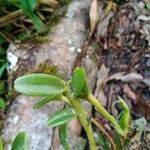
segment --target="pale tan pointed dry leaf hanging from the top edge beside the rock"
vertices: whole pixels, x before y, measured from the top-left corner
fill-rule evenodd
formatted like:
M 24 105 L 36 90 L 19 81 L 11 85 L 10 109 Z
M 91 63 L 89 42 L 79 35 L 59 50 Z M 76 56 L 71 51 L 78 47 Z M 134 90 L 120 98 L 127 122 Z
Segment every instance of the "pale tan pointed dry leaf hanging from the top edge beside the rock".
M 97 22 L 98 22 L 98 2 L 97 0 L 93 0 L 90 8 L 90 24 L 91 24 L 91 35 L 93 34 Z

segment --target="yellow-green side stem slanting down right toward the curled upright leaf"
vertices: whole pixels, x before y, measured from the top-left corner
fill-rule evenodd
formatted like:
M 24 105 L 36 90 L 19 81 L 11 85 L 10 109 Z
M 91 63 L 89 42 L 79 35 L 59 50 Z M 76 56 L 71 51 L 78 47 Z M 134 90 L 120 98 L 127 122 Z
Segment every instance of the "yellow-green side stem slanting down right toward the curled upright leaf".
M 124 131 L 122 130 L 122 128 L 119 126 L 119 124 L 117 123 L 116 119 L 110 115 L 108 113 L 108 111 L 104 108 L 104 106 L 100 103 L 100 101 L 91 93 L 88 94 L 87 96 L 87 100 L 94 105 L 94 107 L 96 108 L 96 110 L 104 117 L 106 118 L 111 124 L 112 126 L 117 130 L 117 132 L 121 135 L 121 136 L 125 136 Z

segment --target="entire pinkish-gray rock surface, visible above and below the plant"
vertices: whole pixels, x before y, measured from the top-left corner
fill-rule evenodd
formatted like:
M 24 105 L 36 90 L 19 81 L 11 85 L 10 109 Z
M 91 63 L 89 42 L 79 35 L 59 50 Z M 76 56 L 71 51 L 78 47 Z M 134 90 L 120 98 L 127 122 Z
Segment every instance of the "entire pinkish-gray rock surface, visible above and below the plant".
M 10 86 L 13 87 L 13 81 L 17 76 L 34 70 L 45 62 L 58 66 L 66 75 L 65 78 L 69 78 L 75 58 L 81 52 L 80 48 L 86 40 L 90 3 L 90 0 L 74 0 L 69 5 L 66 16 L 48 36 L 49 42 L 41 45 L 27 45 L 26 48 L 17 48 L 13 45 L 9 47 Z M 87 68 L 88 79 L 93 89 L 97 66 L 90 57 L 83 60 L 83 66 Z M 28 132 L 32 150 L 51 148 L 52 138 L 55 138 L 55 134 L 52 128 L 47 127 L 46 120 L 54 111 L 63 108 L 63 105 L 62 103 L 50 103 L 35 111 L 32 109 L 32 105 L 36 99 L 22 95 L 17 96 L 8 108 L 2 129 L 2 138 L 8 143 L 6 144 L 7 150 L 10 149 L 11 140 L 22 130 Z M 85 105 L 89 108 L 89 104 Z M 70 136 L 72 137 L 71 147 L 74 147 L 78 140 L 82 141 L 81 138 L 77 136 L 74 138 L 74 136 Z

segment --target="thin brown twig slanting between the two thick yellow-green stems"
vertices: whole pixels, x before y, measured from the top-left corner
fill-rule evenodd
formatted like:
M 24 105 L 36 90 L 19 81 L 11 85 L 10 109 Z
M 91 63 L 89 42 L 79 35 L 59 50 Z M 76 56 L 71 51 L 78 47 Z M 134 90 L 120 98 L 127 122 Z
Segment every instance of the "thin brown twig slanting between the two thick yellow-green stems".
M 107 139 L 111 143 L 112 150 L 116 150 L 116 145 L 114 143 L 113 138 L 105 131 L 104 127 L 100 123 L 98 123 L 94 118 L 91 119 L 91 122 L 93 122 L 100 129 L 100 131 L 107 137 Z

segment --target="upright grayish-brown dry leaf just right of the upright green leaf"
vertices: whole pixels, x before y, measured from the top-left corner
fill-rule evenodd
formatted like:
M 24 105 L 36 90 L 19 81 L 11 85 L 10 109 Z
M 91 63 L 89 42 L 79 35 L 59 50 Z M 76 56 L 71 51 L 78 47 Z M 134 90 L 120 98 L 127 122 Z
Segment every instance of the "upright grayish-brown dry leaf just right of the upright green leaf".
M 107 104 L 107 97 L 104 93 L 103 87 L 107 82 L 108 73 L 109 73 L 109 69 L 107 69 L 104 65 L 102 65 L 100 72 L 98 74 L 96 90 L 94 93 L 94 95 L 102 102 L 103 106 L 106 106 Z

